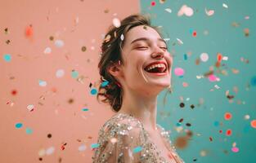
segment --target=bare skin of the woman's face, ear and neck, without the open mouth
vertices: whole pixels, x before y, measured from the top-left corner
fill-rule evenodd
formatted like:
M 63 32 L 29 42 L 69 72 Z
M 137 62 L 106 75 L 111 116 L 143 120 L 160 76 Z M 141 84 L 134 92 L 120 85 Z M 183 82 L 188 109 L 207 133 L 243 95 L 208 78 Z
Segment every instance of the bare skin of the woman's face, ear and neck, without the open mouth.
M 159 33 L 144 25 L 134 27 L 124 36 L 123 64 L 115 64 L 109 72 L 123 88 L 123 104 L 119 112 L 132 114 L 146 130 L 154 132 L 156 127 L 157 96 L 170 86 L 173 58 Z M 133 42 L 137 38 L 146 40 Z M 155 76 L 144 68 L 151 62 L 164 60 L 168 64 L 167 75 Z

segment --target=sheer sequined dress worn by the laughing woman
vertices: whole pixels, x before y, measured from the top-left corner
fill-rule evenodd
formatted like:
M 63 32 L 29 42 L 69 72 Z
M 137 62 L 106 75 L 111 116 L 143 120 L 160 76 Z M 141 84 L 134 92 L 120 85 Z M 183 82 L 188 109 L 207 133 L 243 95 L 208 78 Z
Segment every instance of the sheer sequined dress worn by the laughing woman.
M 177 155 L 169 140 L 169 134 L 157 124 L 161 136 L 172 154 L 172 161 L 166 161 L 141 121 L 132 115 L 119 112 L 111 117 L 99 130 L 92 163 L 185 163 Z

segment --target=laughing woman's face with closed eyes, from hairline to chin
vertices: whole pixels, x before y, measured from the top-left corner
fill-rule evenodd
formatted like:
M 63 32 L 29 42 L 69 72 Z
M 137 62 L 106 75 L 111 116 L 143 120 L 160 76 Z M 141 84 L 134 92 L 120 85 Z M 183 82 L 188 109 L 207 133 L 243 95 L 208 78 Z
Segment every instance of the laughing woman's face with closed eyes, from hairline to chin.
M 144 25 L 130 29 L 124 37 L 122 56 L 124 65 L 120 67 L 123 74 L 121 84 L 125 84 L 128 89 L 146 95 L 158 95 L 164 87 L 170 86 L 173 59 L 155 29 Z M 145 70 L 156 61 L 165 64 L 166 73 L 149 73 Z

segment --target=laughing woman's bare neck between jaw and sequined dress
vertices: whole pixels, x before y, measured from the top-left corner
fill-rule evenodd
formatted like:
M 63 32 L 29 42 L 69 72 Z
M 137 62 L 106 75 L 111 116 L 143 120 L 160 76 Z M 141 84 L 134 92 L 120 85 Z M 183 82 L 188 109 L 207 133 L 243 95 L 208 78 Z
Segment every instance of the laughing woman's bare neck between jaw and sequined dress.
M 137 91 L 128 91 L 123 96 L 119 112 L 136 117 L 146 130 L 156 130 L 157 95 L 143 96 Z

